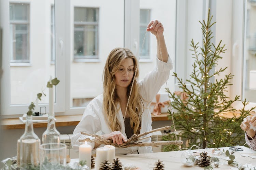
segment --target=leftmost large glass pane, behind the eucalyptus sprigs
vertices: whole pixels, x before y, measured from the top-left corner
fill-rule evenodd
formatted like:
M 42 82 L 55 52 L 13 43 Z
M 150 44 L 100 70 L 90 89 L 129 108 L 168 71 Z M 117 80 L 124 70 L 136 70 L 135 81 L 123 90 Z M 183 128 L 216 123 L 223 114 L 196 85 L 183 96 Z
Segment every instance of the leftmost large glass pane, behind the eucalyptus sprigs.
M 46 84 L 50 75 L 55 77 L 51 63 L 54 0 L 19 2 L 10 3 L 11 105 L 34 102 L 42 90 L 47 96 L 39 103 L 48 103 Z

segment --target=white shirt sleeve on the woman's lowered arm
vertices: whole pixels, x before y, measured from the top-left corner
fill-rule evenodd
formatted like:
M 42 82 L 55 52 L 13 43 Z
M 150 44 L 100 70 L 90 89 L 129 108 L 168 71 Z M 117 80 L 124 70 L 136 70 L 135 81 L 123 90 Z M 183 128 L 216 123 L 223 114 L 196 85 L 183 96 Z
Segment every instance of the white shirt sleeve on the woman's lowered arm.
M 75 127 L 75 130 L 71 138 L 71 144 L 74 151 L 76 152 L 79 151 L 79 146 L 83 144 L 83 142 L 79 142 L 80 139 L 86 139 L 86 138 L 90 138 L 91 140 L 94 139 L 94 137 L 82 135 L 80 132 L 96 134 L 98 131 L 101 130 L 100 119 L 96 113 L 97 109 L 95 107 L 97 108 L 96 101 L 91 101 L 85 108 L 82 120 Z M 87 144 L 91 145 L 92 149 L 95 146 L 94 142 L 93 143 L 87 142 Z

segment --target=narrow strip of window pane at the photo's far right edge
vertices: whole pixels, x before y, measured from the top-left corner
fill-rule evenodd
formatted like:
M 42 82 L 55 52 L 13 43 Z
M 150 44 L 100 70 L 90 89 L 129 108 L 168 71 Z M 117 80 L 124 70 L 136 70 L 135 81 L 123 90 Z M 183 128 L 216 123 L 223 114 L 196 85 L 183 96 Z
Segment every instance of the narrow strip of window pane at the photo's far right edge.
M 245 88 L 244 97 L 256 103 L 256 2 L 247 1 L 247 28 L 245 36 Z M 253 7 L 254 6 L 254 7 Z

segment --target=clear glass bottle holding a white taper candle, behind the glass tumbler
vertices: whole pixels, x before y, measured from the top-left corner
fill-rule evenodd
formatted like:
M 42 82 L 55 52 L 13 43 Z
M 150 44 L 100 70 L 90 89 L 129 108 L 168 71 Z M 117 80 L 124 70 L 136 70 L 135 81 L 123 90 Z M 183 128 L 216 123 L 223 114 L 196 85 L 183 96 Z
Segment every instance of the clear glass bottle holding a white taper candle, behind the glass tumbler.
M 42 143 L 60 143 L 60 133 L 55 127 L 54 113 L 48 114 L 47 129 L 43 133 Z

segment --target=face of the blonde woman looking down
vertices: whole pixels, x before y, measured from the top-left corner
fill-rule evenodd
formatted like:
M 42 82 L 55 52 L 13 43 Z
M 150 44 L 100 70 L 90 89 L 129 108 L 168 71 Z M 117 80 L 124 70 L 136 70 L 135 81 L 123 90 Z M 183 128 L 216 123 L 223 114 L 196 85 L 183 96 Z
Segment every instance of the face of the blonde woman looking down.
M 133 60 L 131 58 L 126 58 L 121 62 L 120 67 L 115 73 L 115 81 L 117 87 L 128 87 L 132 81 L 134 74 Z

